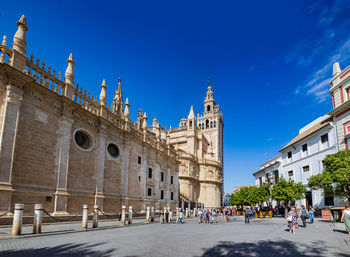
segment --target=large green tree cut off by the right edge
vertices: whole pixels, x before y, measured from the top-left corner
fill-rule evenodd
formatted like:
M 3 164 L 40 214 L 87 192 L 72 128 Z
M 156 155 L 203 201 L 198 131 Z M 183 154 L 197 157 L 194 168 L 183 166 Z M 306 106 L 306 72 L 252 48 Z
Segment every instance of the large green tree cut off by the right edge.
M 309 187 L 326 189 L 325 196 L 337 196 L 350 202 L 350 151 L 327 155 L 323 164 L 323 172 L 309 178 Z

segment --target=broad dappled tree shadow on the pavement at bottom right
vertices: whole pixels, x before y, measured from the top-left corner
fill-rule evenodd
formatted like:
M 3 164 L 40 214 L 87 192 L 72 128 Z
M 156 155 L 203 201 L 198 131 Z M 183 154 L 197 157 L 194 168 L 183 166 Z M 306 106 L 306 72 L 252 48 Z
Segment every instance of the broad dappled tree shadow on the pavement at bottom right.
M 315 241 L 310 245 L 301 245 L 301 250 L 294 242 L 281 241 L 258 241 L 258 242 L 225 242 L 221 241 L 216 246 L 204 249 L 203 257 L 206 256 L 235 256 L 235 257 L 267 257 L 267 256 L 283 256 L 283 257 L 309 257 L 309 256 L 330 256 L 328 246 L 323 241 Z M 348 253 L 338 253 L 336 256 L 349 257 Z

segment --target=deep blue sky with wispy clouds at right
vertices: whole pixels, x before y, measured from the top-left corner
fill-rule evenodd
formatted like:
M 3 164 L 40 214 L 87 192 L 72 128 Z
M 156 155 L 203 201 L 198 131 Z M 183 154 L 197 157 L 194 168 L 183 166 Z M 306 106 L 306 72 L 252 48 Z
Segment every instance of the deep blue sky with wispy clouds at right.
M 350 1 L 5 1 L 9 44 L 25 14 L 27 54 L 107 101 L 122 78 L 131 118 L 175 127 L 203 112 L 210 77 L 224 115 L 225 191 L 331 110 L 332 64 L 350 64 Z

